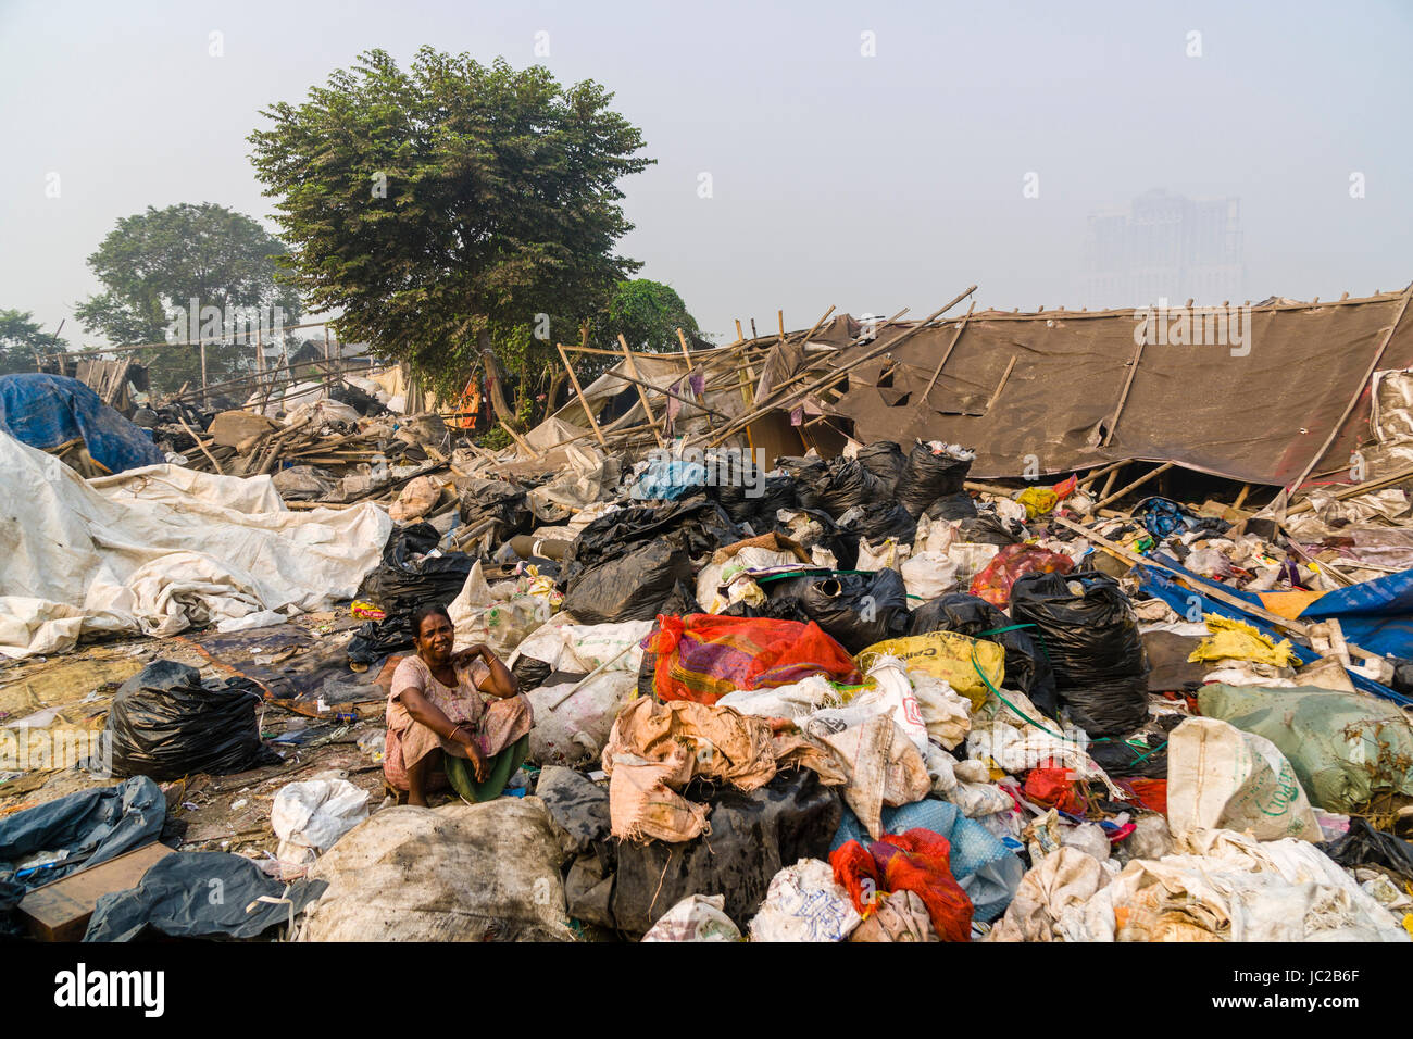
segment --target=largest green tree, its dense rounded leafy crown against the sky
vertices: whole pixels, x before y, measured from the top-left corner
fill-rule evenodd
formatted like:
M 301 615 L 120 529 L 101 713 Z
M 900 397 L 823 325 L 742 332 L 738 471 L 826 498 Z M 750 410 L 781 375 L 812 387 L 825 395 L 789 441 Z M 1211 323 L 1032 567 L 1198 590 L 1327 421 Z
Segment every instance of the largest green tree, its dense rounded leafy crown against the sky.
M 441 387 L 480 362 L 524 393 L 554 341 L 575 341 L 642 266 L 613 252 L 633 226 L 617 181 L 651 160 L 610 100 L 592 81 L 561 86 L 504 59 L 424 47 L 404 71 L 383 51 L 359 55 L 304 103 L 263 112 L 271 124 L 250 136 L 297 250 L 294 284 L 342 311 L 345 338 Z

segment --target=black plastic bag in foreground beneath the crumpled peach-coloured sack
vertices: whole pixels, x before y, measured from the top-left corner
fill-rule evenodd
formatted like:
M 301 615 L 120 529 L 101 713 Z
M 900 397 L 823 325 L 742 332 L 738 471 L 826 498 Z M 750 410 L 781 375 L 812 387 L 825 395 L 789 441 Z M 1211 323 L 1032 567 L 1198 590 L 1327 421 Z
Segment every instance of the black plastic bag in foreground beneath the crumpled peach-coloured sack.
M 564 881 L 569 916 L 632 937 L 688 895 L 723 895 L 726 916 L 745 930 L 780 869 L 828 858 L 844 814 L 839 793 L 803 769 L 750 793 L 695 780 L 682 796 L 711 806 L 711 834 L 617 841 L 609 837 L 608 786 L 567 772 L 545 769 L 536 796 L 565 844 L 579 848 Z

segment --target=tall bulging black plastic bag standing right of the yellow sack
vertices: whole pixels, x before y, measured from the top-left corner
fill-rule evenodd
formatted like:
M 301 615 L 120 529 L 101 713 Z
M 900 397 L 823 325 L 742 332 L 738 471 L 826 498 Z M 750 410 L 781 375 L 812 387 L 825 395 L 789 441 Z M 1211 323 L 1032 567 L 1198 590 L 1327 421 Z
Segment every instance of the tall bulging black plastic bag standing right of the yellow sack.
M 1034 625 L 1030 630 L 1054 666 L 1060 703 L 1091 736 L 1126 736 L 1147 720 L 1143 639 L 1112 577 L 1026 574 L 1010 588 L 1010 618 Z

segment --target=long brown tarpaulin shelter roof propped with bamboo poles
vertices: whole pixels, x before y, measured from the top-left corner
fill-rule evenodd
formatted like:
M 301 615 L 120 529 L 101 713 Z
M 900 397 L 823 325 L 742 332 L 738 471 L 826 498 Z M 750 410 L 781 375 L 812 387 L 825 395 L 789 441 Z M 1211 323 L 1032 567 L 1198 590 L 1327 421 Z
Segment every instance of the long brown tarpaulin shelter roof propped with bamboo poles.
M 931 393 L 928 382 L 961 318 L 853 369 L 828 410 L 851 418 L 865 442 L 894 440 L 906 450 L 921 438 L 972 447 L 972 475 L 982 479 L 1027 475 L 1027 462 L 1054 474 L 1132 458 L 1286 483 L 1320 452 L 1355 393 L 1361 400 L 1324 452 L 1323 468 L 1347 464 L 1368 434 L 1365 375 L 1402 300 L 1403 293 L 1390 293 L 1253 307 L 1245 356 L 1234 356 L 1229 345 L 1149 342 L 1116 421 L 1139 353 L 1135 311 L 988 311 L 965 319 Z M 852 348 L 835 366 L 875 345 Z M 1405 314 L 1378 368 L 1410 365 L 1413 314 Z

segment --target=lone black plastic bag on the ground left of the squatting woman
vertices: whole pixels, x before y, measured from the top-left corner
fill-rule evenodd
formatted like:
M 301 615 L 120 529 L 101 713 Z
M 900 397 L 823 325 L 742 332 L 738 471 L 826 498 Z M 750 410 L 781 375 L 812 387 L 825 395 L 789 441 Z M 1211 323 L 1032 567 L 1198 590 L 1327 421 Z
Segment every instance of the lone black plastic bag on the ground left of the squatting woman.
M 123 683 L 107 711 L 114 776 L 225 775 L 283 759 L 260 742 L 260 687 L 202 686 L 201 671 L 154 660 Z

